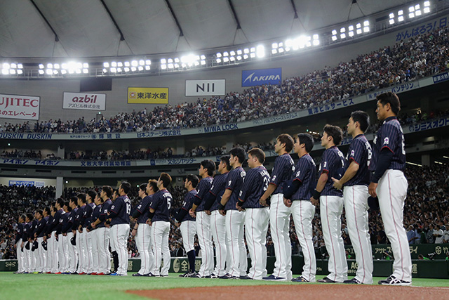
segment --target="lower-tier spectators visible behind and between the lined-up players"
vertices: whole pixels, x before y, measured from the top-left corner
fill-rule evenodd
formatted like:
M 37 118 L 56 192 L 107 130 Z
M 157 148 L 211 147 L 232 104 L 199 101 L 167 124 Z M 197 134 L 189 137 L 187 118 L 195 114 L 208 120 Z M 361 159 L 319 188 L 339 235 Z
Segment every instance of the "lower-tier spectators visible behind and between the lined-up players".
M 408 165 L 408 196 L 404 208 L 404 227 L 408 231 L 410 244 L 449 243 L 449 164 L 435 164 L 431 167 L 415 167 Z M 65 188 L 62 197 L 69 199 L 79 193 L 86 193 L 94 188 Z M 168 189 L 173 195 L 173 215 L 182 206 L 187 190 L 181 186 Z M 133 187 L 128 193 L 132 207 L 140 202 L 138 187 Z M 55 200 L 55 188 L 25 187 L 18 185 L 0 185 L 0 249 L 3 259 L 15 259 L 15 230 L 20 214 L 43 209 Z M 180 229 L 170 221 L 170 254 L 171 256 L 185 256 L 182 248 Z M 313 241 L 316 251 L 324 247 L 323 234 L 319 210 L 316 210 L 313 224 Z M 411 228 L 410 228 L 411 226 Z M 443 229 L 444 228 L 444 229 Z M 351 244 L 347 233 L 346 221 L 342 219 L 342 237 L 345 244 Z M 290 222 L 290 239 L 292 253 L 300 254 L 300 244 L 297 240 L 293 222 Z M 370 211 L 370 241 L 371 244 L 388 244 L 384 233 L 380 211 Z M 267 254 L 274 255 L 274 247 L 270 231 L 267 233 Z M 198 243 L 195 244 L 196 254 L 201 255 Z M 128 256 L 139 257 L 135 240 L 128 238 Z

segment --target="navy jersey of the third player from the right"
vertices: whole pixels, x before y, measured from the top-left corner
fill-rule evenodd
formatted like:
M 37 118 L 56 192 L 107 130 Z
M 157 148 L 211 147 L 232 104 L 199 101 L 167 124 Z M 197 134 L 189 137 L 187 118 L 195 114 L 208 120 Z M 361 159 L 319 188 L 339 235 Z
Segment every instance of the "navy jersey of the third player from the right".
M 335 179 L 342 178 L 345 166 L 346 159 L 344 159 L 343 153 L 338 150 L 337 146 L 332 146 L 324 150 L 319 171 L 320 175 L 323 173 L 328 174 L 328 181 L 326 181 L 326 185 L 321 191 L 321 195 L 343 197 L 342 190 L 337 190 L 333 187 L 334 182 L 332 177 Z

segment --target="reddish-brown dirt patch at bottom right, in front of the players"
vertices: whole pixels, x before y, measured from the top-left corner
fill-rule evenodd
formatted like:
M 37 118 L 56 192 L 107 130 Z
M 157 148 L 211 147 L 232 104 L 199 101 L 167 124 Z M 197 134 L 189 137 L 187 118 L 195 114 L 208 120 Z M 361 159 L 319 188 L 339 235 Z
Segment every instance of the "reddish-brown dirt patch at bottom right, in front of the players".
M 192 287 L 126 291 L 161 300 L 268 299 L 449 299 L 449 287 L 386 287 L 381 285 L 259 285 Z

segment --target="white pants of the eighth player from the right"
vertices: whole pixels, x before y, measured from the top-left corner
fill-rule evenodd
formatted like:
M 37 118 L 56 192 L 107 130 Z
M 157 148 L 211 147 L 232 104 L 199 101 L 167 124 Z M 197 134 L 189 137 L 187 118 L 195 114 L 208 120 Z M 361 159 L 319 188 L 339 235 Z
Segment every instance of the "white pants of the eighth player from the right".
M 213 273 L 217 276 L 223 276 L 226 274 L 227 257 L 226 217 L 222 216 L 218 210 L 211 212 L 210 231 L 212 231 L 213 242 L 215 243 L 215 258 L 217 259 Z

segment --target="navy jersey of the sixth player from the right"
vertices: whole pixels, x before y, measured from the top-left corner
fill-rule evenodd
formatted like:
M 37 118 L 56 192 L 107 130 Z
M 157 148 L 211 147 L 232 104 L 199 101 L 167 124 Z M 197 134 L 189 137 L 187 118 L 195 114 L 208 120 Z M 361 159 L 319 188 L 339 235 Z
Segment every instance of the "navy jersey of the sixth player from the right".
M 290 156 L 290 155 L 289 155 Z M 291 171 L 291 169 L 290 169 Z M 245 176 L 239 193 L 239 200 L 244 202 L 242 207 L 246 209 L 261 208 L 260 197 L 264 195 L 269 184 L 269 174 L 264 166 L 250 169 Z

